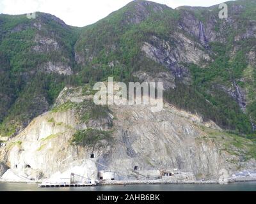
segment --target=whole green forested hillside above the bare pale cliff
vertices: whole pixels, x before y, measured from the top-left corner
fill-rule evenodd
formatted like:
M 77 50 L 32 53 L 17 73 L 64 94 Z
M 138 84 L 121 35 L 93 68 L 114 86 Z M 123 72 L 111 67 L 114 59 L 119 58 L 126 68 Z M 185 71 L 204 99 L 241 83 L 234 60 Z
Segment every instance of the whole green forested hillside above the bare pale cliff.
M 175 89 L 164 91 L 166 101 L 253 137 L 256 3 L 227 4 L 228 19 L 220 19 L 218 6 L 173 10 L 137 0 L 83 28 L 45 13 L 31 20 L 0 15 L 0 134 L 12 136 L 49 110 L 65 85 L 109 76 L 137 81 L 134 73 L 143 71 L 175 77 Z M 70 67 L 72 74 L 45 71 L 42 65 L 48 62 Z

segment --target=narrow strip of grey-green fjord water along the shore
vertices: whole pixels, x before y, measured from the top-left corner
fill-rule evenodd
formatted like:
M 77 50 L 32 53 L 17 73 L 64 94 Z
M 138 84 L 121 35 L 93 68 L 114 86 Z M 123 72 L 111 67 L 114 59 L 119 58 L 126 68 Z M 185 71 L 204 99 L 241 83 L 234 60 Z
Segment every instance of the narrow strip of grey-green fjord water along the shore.
M 0 191 L 256 191 L 256 182 L 220 184 L 154 184 L 39 188 L 37 184 L 1 183 Z

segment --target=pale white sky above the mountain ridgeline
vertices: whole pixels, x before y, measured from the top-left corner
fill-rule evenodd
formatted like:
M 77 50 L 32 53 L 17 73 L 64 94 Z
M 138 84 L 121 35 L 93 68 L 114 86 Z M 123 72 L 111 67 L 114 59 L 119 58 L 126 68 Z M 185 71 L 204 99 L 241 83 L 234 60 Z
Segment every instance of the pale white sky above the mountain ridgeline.
M 225 0 L 151 0 L 172 8 L 212 6 Z M 131 0 L 0 0 L 0 13 L 24 14 L 34 11 L 51 13 L 66 24 L 82 27 L 97 22 Z

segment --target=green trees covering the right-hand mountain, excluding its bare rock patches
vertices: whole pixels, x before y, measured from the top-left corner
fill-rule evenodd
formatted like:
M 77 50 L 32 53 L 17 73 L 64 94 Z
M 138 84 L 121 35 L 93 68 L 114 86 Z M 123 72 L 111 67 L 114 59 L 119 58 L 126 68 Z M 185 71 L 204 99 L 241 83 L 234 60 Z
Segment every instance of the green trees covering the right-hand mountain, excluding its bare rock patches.
M 126 10 L 127 8 L 118 10 L 115 15 L 110 15 L 97 24 L 91 25 L 77 41 L 76 49 L 83 52 L 85 56 L 93 57 L 93 61 L 85 59 L 86 65 L 82 67 L 79 82 L 106 80 L 109 75 L 114 76 L 116 80 L 128 82 L 137 80 L 132 77 L 134 71 L 144 70 L 154 73 L 154 71 L 164 70 L 159 64 L 156 65 L 155 62 L 141 55 L 141 43 L 147 41 L 152 35 L 172 43 L 172 33 L 175 32 L 174 29 L 179 24 L 180 17 L 186 13 L 163 9 L 164 15 L 153 11 L 152 15 L 140 24 L 131 24 L 129 20 L 132 21 L 136 10 Z M 195 15 L 198 20 L 204 22 L 213 15 L 218 16 L 218 11 L 218 6 L 212 7 L 212 11 L 196 8 L 191 11 L 191 15 Z M 235 99 L 220 89 L 221 85 L 230 87 L 233 82 L 241 87 L 244 86 L 241 78 L 243 78 L 244 69 L 248 66 L 246 54 L 255 45 L 255 39 L 235 41 L 236 34 L 243 33 L 247 18 L 238 22 L 241 29 L 227 27 L 223 31 L 227 42 L 210 43 L 208 49 L 211 50 L 210 54 L 214 61 L 207 64 L 206 68 L 195 64 L 184 64 L 189 68 L 192 84 L 183 84 L 182 80 L 177 80 L 177 88 L 166 91 L 164 98 L 180 108 L 202 115 L 205 120 L 213 120 L 222 128 L 250 134 L 252 133 L 250 118 L 253 118 L 256 123 L 255 117 L 250 117 L 255 114 L 252 111 L 254 103 L 248 104 L 247 113 L 243 113 Z M 219 20 L 216 23 L 217 30 L 220 29 L 220 23 Z M 113 45 L 115 45 L 114 48 Z M 231 57 L 234 47 L 239 47 L 239 50 Z M 111 61 L 118 61 L 119 64 L 109 67 L 108 63 Z

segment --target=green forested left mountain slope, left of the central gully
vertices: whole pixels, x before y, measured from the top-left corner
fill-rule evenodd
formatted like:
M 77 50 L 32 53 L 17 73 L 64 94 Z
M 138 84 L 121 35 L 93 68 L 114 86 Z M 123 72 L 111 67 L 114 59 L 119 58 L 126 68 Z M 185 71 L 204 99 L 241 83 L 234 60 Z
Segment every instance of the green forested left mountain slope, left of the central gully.
M 26 15 L 0 15 L 0 135 L 12 136 L 24 128 L 70 84 L 71 77 L 46 73 L 43 65 L 63 62 L 74 68 L 78 32 L 44 13 L 37 13 L 35 20 Z M 37 38 L 54 39 L 60 48 L 35 52 L 33 47 L 40 45 Z

